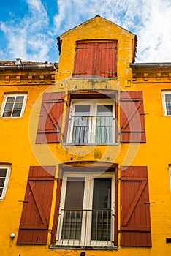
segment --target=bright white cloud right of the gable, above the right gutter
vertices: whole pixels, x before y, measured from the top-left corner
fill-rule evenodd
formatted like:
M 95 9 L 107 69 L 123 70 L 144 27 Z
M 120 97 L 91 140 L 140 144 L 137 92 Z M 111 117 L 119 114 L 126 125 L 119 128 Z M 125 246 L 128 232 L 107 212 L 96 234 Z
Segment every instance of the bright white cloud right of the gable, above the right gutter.
M 171 62 L 170 0 L 144 1 L 138 56 L 145 62 Z

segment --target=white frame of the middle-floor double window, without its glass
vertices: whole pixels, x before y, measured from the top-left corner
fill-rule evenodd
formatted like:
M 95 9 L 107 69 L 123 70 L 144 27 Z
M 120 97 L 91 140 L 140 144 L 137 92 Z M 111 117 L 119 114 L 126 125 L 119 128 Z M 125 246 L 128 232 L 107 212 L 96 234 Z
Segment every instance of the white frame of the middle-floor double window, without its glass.
M 68 125 L 68 132 L 67 132 L 67 138 L 66 143 L 72 144 L 72 133 L 73 133 L 73 124 L 74 124 L 74 118 L 72 116 L 75 116 L 75 106 L 76 105 L 90 105 L 90 116 L 96 116 L 97 113 L 97 106 L 98 105 L 112 105 L 113 106 L 113 140 L 111 143 L 98 143 L 98 145 L 109 145 L 115 143 L 115 102 L 113 99 L 73 99 L 70 106 L 70 112 L 69 112 L 69 125 Z M 91 127 L 91 121 L 89 124 L 89 127 Z M 94 117 L 92 118 L 92 130 L 88 131 L 88 145 L 95 144 L 96 143 L 96 122 L 94 121 Z M 75 143 L 74 143 L 75 144 Z

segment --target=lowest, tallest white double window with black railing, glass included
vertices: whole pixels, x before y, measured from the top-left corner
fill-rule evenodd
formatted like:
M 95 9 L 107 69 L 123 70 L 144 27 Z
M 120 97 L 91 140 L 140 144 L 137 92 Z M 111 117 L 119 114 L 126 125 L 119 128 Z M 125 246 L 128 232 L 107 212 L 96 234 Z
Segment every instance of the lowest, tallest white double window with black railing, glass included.
M 115 173 L 64 173 L 56 244 L 113 246 Z

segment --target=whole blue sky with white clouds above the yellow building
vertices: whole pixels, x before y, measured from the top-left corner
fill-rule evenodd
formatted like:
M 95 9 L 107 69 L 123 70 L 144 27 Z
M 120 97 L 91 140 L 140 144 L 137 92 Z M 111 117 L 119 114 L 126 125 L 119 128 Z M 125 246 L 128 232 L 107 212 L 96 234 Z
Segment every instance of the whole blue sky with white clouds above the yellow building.
M 58 62 L 56 37 L 100 15 L 137 34 L 136 62 L 171 62 L 170 0 L 0 0 L 0 60 Z

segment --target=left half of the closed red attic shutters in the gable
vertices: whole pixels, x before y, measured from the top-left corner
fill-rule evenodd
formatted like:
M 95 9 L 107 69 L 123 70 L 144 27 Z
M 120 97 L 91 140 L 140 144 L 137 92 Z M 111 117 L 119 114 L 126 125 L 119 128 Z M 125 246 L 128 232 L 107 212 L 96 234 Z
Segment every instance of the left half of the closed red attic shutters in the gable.
M 75 53 L 74 77 L 88 77 L 93 74 L 94 44 L 77 42 Z

